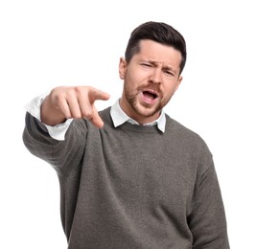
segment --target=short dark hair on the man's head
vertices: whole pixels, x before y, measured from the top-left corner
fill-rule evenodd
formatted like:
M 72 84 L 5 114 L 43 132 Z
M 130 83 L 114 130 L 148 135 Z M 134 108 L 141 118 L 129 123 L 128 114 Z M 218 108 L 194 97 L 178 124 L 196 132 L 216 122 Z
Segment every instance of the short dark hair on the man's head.
M 138 26 L 132 31 L 128 39 L 128 46 L 125 57 L 127 61 L 135 54 L 139 53 L 139 42 L 143 39 L 151 39 L 161 44 L 171 46 L 181 53 L 181 62 L 179 65 L 181 74 L 187 58 L 186 42 L 181 34 L 179 34 L 172 26 L 163 22 L 146 22 Z

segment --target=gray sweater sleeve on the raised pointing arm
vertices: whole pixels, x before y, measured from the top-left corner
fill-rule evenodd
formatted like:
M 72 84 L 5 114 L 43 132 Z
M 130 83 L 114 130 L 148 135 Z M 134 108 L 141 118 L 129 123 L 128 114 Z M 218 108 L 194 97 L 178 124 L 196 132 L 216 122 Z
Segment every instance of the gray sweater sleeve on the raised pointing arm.
M 80 165 L 86 132 L 84 120 L 74 121 L 66 131 L 65 140 L 58 141 L 50 136 L 44 124 L 27 112 L 22 139 L 32 154 L 49 163 L 59 174 L 68 174 L 72 167 Z

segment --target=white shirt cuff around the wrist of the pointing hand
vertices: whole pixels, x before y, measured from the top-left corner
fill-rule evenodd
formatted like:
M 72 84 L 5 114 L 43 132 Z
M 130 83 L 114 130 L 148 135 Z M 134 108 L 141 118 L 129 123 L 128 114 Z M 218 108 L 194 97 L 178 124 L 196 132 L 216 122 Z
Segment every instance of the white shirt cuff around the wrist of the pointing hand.
M 48 94 L 43 94 L 40 95 L 38 97 L 35 97 L 35 99 L 33 99 L 31 102 L 28 102 L 25 105 L 25 109 L 33 116 L 35 117 L 35 119 L 37 119 L 41 124 L 43 124 L 41 122 L 41 112 L 40 112 L 40 107 L 42 102 L 44 101 L 45 97 Z M 68 119 L 66 120 L 65 123 L 62 124 L 57 124 L 55 126 L 51 126 L 48 124 L 44 124 L 49 132 L 49 135 L 58 140 L 58 141 L 64 141 L 65 140 L 65 134 L 67 129 L 69 128 L 69 125 L 71 124 L 71 122 L 73 121 L 73 119 Z

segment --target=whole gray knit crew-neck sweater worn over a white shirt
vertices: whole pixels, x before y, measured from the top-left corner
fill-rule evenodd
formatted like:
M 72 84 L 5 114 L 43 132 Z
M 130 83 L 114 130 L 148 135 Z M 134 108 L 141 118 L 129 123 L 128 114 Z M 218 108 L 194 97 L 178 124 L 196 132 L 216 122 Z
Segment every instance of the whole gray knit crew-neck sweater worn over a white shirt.
M 65 141 L 29 113 L 23 141 L 58 172 L 69 249 L 227 249 L 212 155 L 195 132 L 166 115 L 154 126 L 104 128 L 74 120 Z

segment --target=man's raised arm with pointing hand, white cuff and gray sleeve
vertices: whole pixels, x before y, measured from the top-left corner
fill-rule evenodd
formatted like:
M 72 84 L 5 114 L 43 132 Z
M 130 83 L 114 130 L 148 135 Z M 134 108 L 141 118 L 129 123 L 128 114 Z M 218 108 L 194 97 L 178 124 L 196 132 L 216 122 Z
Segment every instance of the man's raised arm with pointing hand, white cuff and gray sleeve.
M 83 153 L 86 144 L 84 134 L 87 132 L 87 122 L 73 121 L 69 124 L 74 119 L 85 118 L 101 127 L 103 121 L 94 107 L 94 102 L 107 100 L 108 97 L 108 94 L 93 87 L 79 86 L 58 87 L 49 95 L 35 98 L 26 106 L 28 113 L 23 132 L 24 145 L 36 157 L 56 169 L 68 171 L 73 165 L 71 162 L 80 160 L 79 155 Z M 67 129 L 70 130 L 68 134 Z M 65 143 L 58 143 L 56 140 L 65 140 Z

